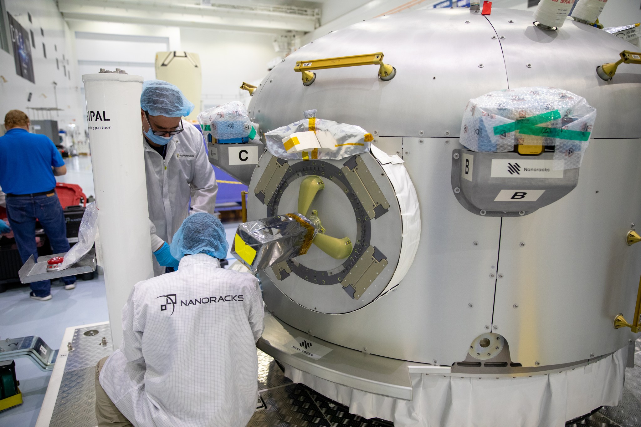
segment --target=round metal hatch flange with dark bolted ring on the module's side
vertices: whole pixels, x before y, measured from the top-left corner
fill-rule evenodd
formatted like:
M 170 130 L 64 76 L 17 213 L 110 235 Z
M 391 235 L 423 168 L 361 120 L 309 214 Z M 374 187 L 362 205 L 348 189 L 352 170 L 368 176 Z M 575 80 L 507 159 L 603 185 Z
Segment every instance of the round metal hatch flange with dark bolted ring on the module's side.
M 389 205 L 387 210 L 377 209 L 374 218 L 370 218 L 372 209 L 368 208 L 371 207 L 363 206 L 363 200 L 367 202 L 369 199 L 363 197 L 363 193 L 357 193 L 363 189 L 354 189 L 350 182 L 351 179 L 354 183 L 354 175 L 346 175 L 356 170 L 354 162 L 357 156 L 360 157 L 358 173 L 361 177 L 370 177 L 379 189 L 376 197 L 382 195 Z M 257 220 L 296 212 L 299 188 L 304 177 L 316 175 L 324 182 L 325 188 L 317 193 L 308 213 L 312 209 L 318 211 L 328 236 L 348 237 L 352 241 L 353 250 L 349 257 L 336 260 L 312 245 L 307 254 L 260 273 L 267 275 L 288 298 L 310 310 L 340 314 L 364 307 L 385 291 L 399 261 L 403 229 L 394 188 L 380 163 L 370 153 L 357 156 L 340 160 L 287 160 L 287 165 L 283 165 L 287 169 L 280 176 L 278 185 L 271 184 L 271 197 L 261 200 L 254 190 L 263 173 L 269 170 L 269 162 L 274 159 L 269 152 L 265 152 L 249 184 L 247 216 L 249 220 Z M 372 184 L 368 186 L 371 189 Z M 385 262 L 376 264 L 379 271 L 367 277 L 365 286 L 359 282 L 361 289 L 355 292 L 347 286 L 346 278 L 361 277 L 366 270 L 364 267 L 372 262 L 372 252 L 374 257 L 378 257 L 378 262 L 381 259 Z M 352 275 L 348 276 L 351 271 Z

